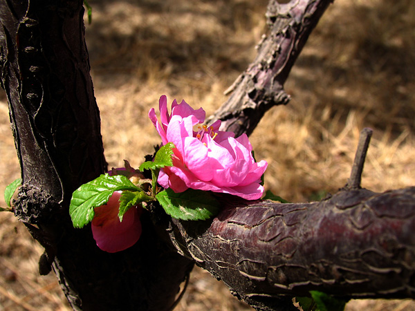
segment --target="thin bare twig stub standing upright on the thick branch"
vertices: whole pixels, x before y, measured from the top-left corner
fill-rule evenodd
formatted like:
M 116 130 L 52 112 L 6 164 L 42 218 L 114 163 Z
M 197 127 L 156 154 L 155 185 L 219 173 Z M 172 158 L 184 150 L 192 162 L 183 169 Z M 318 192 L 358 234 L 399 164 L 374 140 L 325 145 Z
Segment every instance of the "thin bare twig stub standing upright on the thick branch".
M 362 181 L 363 165 L 365 164 L 367 149 L 373 131 L 368 127 L 362 129 L 359 137 L 358 150 L 351 167 L 350 178 L 347 180 L 346 189 L 360 189 L 360 182 Z

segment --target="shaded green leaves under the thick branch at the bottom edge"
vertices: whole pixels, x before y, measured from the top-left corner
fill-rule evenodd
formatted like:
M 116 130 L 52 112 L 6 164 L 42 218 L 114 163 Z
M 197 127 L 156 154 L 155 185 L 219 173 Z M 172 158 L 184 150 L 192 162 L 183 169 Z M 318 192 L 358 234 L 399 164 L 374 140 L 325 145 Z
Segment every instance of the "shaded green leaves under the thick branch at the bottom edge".
M 295 297 L 295 301 L 304 311 L 344 311 L 348 301 L 316 290 L 311 290 L 310 294 L 311 297 Z

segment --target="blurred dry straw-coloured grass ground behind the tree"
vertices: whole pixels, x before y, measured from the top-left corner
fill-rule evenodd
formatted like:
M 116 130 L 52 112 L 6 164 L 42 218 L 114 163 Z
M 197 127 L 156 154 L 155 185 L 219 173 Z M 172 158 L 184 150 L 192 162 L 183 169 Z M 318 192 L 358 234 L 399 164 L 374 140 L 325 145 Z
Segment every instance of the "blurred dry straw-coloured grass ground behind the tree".
M 109 167 L 138 167 L 160 142 L 147 113 L 160 95 L 207 115 L 255 57 L 266 0 L 89 0 L 86 24 L 95 97 Z M 87 22 L 86 22 L 87 23 Z M 336 0 L 286 83 L 292 100 L 251 135 L 269 163 L 265 187 L 292 202 L 320 200 L 349 177 L 362 128 L 374 129 L 362 187 L 415 185 L 415 2 Z M 0 93 L 0 206 L 19 178 L 6 97 Z M 70 310 L 25 227 L 0 214 L 0 311 Z M 195 268 L 178 311 L 252 310 Z M 410 311 L 412 300 L 351 301 L 348 311 Z

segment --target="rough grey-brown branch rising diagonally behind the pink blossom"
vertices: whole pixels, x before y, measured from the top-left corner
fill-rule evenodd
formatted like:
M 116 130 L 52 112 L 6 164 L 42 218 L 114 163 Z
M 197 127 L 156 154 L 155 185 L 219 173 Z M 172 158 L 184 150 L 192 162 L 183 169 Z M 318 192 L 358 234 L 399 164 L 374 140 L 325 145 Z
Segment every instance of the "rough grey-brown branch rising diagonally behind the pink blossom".
M 250 135 L 261 117 L 290 100 L 284 83 L 311 31 L 331 0 L 270 0 L 266 17 L 270 31 L 257 46 L 258 54 L 226 93 L 229 99 L 209 118 L 222 120 L 223 130 Z

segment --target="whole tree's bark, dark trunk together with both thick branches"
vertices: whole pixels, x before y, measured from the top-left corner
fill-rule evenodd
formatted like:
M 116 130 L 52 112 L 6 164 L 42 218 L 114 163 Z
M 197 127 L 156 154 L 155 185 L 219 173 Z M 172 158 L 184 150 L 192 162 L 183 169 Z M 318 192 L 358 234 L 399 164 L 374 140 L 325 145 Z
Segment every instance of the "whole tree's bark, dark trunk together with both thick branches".
M 330 2 L 270 1 L 270 34 L 210 120 L 251 133 L 286 104 L 285 79 Z M 414 297 L 414 188 L 349 187 L 303 204 L 223 196 L 221 213 L 198 223 L 156 209 L 140 241 L 117 254 L 95 247 L 89 227 L 73 229 L 72 191 L 106 169 L 82 15 L 81 0 L 0 1 L 1 84 L 24 180 L 16 214 L 46 249 L 41 272 L 52 263 L 74 309 L 169 310 L 194 261 L 258 310 L 291 310 L 291 296 L 315 289 Z

